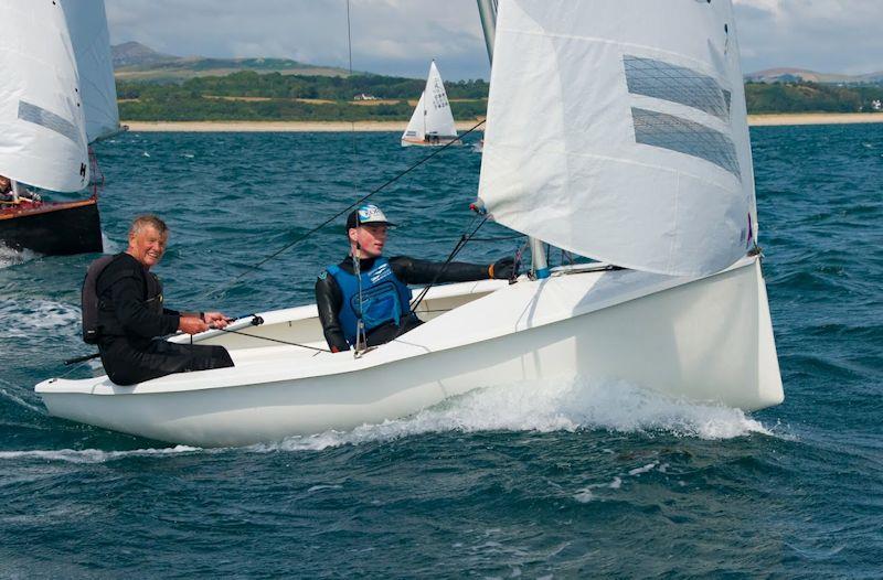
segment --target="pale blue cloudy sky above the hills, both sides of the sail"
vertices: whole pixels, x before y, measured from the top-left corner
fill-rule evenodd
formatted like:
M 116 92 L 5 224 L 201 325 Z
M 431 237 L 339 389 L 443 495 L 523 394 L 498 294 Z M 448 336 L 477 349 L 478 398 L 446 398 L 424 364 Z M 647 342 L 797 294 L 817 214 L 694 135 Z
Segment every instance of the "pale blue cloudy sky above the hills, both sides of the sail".
M 733 1 L 745 73 L 781 66 L 883 71 L 883 0 Z M 276 56 L 349 67 L 347 0 L 105 3 L 113 44 L 138 41 L 178 56 Z M 447 80 L 489 76 L 475 0 L 350 0 L 349 12 L 355 71 L 423 77 L 435 58 Z

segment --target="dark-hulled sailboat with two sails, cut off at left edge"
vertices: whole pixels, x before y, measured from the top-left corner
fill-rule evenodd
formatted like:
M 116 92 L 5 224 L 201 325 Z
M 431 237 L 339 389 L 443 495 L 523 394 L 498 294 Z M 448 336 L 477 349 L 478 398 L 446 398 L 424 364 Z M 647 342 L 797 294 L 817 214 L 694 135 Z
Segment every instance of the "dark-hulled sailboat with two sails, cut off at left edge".
M 78 192 L 89 184 L 88 144 L 119 129 L 104 2 L 0 4 L 0 241 L 68 255 L 102 251 L 97 189 L 44 202 L 22 184 Z

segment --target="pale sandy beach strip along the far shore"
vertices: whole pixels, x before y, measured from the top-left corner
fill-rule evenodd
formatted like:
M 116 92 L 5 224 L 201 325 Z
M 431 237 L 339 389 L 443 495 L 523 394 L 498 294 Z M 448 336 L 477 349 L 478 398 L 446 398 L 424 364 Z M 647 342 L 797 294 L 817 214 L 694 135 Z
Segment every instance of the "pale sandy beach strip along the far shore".
M 121 121 L 136 132 L 401 132 L 406 121 Z M 457 130 L 471 129 L 478 121 L 458 121 Z M 883 112 L 812 112 L 748 115 L 751 127 L 797 125 L 857 125 L 883 122 Z M 481 131 L 479 127 L 477 131 Z

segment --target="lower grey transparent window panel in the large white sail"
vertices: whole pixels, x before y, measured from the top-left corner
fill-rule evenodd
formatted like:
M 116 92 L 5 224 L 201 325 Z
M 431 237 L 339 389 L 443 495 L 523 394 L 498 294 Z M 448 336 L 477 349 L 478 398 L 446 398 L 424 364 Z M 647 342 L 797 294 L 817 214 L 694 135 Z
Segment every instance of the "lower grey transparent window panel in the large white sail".
M 673 115 L 632 108 L 635 141 L 704 159 L 742 180 L 733 140 L 704 125 Z

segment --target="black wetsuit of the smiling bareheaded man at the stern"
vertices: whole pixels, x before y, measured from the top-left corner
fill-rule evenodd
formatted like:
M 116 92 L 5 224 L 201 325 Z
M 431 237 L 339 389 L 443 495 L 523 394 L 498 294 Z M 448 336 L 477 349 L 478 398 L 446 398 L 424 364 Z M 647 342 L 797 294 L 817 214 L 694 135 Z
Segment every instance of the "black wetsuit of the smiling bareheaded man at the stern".
M 223 346 L 156 339 L 178 330 L 180 313 L 162 308 L 159 280 L 128 254 L 98 277 L 98 351 L 110 380 L 134 385 L 151 378 L 233 366 Z

